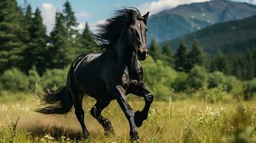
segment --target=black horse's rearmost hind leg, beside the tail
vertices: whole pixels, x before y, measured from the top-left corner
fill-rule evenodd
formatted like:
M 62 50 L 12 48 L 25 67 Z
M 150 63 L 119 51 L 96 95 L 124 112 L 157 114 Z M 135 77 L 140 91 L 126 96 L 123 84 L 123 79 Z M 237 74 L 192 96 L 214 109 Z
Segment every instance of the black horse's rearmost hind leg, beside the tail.
M 80 122 L 80 125 L 82 127 L 82 133 L 85 138 L 89 137 L 89 132 L 85 126 L 85 112 L 82 109 L 82 98 L 83 95 L 80 94 L 78 97 L 74 96 L 74 107 L 75 107 L 75 115 L 77 117 L 78 122 Z

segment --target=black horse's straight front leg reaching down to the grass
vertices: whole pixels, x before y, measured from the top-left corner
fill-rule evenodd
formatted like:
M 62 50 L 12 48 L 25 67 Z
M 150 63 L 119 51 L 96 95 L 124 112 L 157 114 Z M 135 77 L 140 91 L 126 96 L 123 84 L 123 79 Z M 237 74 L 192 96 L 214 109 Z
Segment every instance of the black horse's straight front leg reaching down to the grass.
M 136 124 L 134 122 L 133 109 L 130 107 L 127 100 L 125 99 L 125 90 L 123 89 L 123 87 L 118 85 L 116 86 L 116 89 L 117 91 L 114 94 L 115 99 L 117 100 L 119 106 L 123 110 L 125 117 L 128 119 L 130 125 L 130 140 L 131 142 L 137 141 L 139 137 L 136 129 Z

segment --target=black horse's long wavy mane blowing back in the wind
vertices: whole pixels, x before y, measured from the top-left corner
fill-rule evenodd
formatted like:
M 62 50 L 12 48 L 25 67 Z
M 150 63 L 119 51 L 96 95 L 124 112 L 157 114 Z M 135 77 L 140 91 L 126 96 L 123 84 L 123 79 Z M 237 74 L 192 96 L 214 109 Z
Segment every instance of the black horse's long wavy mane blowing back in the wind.
M 129 18 L 132 12 L 133 17 Z M 120 37 L 123 27 L 128 26 L 141 17 L 141 12 L 135 7 L 128 7 L 115 11 L 115 16 L 107 19 L 104 24 L 98 25 L 98 32 L 93 37 L 98 41 L 98 46 L 105 51 L 109 49 Z

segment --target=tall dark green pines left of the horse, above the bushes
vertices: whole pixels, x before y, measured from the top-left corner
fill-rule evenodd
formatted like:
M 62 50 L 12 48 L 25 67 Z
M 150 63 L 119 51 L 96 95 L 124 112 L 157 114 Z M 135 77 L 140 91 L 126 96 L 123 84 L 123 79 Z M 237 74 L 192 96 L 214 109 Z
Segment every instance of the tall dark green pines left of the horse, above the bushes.
M 0 9 L 0 74 L 12 67 L 27 73 L 34 66 L 42 75 L 46 69 L 64 68 L 79 54 L 97 51 L 88 24 L 82 32 L 77 29 L 68 1 L 57 11 L 49 35 L 39 8 L 1 0 Z

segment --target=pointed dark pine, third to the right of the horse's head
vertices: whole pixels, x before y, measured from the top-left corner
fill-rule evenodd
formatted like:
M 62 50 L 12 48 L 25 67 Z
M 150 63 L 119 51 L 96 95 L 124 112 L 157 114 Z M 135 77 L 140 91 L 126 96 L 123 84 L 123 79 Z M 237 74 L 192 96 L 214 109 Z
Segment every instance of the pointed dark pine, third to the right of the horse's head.
M 176 71 L 189 72 L 189 68 L 187 67 L 188 66 L 187 51 L 183 41 L 181 41 L 179 45 L 179 49 L 177 50 L 174 57 L 175 57 L 174 68 L 176 69 Z

